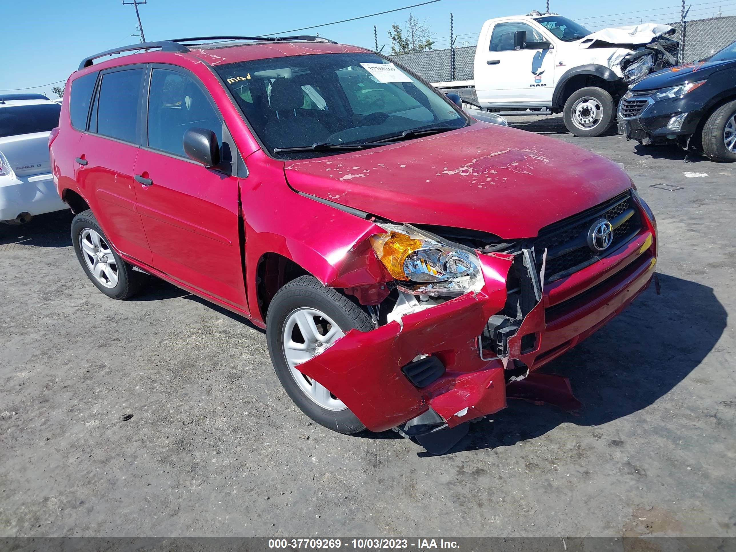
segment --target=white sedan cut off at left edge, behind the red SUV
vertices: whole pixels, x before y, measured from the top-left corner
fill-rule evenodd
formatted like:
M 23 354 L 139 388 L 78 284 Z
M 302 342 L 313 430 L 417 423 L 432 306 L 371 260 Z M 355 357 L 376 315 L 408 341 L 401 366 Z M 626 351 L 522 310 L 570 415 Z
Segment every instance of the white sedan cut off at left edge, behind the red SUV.
M 38 94 L 0 96 L 0 222 L 23 224 L 32 216 L 68 209 L 54 186 L 49 133 L 61 106 Z

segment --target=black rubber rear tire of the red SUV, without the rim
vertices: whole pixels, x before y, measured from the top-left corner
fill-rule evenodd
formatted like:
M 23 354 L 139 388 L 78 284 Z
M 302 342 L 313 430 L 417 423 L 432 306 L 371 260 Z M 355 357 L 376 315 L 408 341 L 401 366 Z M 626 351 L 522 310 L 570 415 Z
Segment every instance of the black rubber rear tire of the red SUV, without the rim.
M 85 255 L 87 254 L 82 251 L 82 246 L 79 243 L 79 237 L 85 229 L 94 230 L 96 233 L 99 234 L 99 236 L 102 237 L 103 240 L 105 240 L 106 244 L 108 243 L 107 238 L 105 237 L 105 233 L 102 231 L 102 228 L 99 226 L 94 213 L 90 209 L 82 211 L 82 213 L 79 213 L 77 216 L 74 217 L 74 219 L 72 219 L 71 243 L 72 245 L 74 245 L 74 252 L 77 253 L 77 260 L 79 261 L 79 264 L 82 265 L 82 269 L 85 271 L 85 274 L 89 277 L 96 288 L 107 295 L 107 297 L 121 300 L 128 299 L 129 297 L 137 294 L 138 291 L 141 291 L 141 288 L 143 288 L 143 286 L 148 282 L 149 275 L 144 274 L 144 272 L 134 271 L 132 265 L 123 261 L 112 247 L 110 247 L 110 251 L 112 252 L 113 258 L 115 260 L 118 273 L 118 283 L 116 284 L 116 286 L 111 288 L 103 286 L 102 283 L 99 283 L 99 281 L 96 279 L 96 277 L 93 276 L 91 270 L 87 266 L 87 263 L 85 262 Z

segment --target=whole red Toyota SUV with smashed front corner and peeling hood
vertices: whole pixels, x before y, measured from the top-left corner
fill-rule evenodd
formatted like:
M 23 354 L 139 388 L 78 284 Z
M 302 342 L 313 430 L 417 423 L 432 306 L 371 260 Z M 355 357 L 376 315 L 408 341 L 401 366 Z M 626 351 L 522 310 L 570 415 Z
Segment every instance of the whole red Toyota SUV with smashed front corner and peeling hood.
M 618 166 L 476 121 L 366 49 L 136 44 L 66 90 L 52 167 L 90 280 L 125 299 L 155 275 L 247 316 L 335 431 L 457 435 L 654 275 Z

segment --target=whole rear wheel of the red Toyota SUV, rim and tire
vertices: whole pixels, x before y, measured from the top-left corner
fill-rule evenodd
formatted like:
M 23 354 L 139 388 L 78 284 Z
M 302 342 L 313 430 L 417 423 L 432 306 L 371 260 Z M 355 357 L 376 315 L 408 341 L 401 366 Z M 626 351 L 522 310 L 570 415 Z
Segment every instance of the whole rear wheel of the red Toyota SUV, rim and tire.
M 148 281 L 149 275 L 135 272 L 110 247 L 91 210 L 82 211 L 71 221 L 71 243 L 85 273 L 107 297 L 127 299 Z

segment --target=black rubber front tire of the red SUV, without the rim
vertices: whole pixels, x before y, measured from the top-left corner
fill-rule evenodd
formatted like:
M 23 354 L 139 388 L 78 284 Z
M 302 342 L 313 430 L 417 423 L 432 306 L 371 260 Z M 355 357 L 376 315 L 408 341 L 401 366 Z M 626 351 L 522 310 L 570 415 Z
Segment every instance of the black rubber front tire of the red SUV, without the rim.
M 350 411 L 331 411 L 311 400 L 294 381 L 283 349 L 283 325 L 295 309 L 316 308 L 347 332 L 350 329 L 366 332 L 374 328 L 370 316 L 360 305 L 333 288 L 325 288 L 313 276 L 291 280 L 275 294 L 266 315 L 266 339 L 269 354 L 281 385 L 304 414 L 333 431 L 352 435 L 364 431 L 365 426 Z M 338 397 L 339 398 L 339 397 Z

